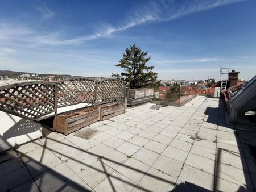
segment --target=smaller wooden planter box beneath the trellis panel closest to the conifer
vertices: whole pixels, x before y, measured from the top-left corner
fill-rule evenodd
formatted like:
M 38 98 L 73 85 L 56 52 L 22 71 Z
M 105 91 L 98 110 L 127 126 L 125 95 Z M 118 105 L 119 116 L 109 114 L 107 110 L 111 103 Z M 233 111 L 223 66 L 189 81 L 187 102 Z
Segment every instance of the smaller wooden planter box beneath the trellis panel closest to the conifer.
M 125 112 L 125 104 L 123 103 L 108 103 L 96 107 L 100 108 L 101 120 L 106 120 L 112 118 L 113 116 L 123 114 Z

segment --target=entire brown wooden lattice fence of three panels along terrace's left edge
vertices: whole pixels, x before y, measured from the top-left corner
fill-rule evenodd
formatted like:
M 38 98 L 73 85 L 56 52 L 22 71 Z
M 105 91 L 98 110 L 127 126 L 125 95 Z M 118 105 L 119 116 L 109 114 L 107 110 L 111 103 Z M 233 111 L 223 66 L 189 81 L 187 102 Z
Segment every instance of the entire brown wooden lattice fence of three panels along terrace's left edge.
M 0 110 L 37 119 L 57 108 L 79 103 L 125 103 L 123 82 L 115 79 L 69 78 L 58 82 L 24 82 L 0 87 Z

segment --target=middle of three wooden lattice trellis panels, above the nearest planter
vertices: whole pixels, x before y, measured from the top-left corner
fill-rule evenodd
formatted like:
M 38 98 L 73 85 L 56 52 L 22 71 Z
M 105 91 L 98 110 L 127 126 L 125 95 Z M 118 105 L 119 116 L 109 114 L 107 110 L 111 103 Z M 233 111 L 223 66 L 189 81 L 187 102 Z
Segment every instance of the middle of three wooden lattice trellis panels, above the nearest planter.
M 57 107 L 93 102 L 96 87 L 93 79 L 71 78 L 57 85 Z

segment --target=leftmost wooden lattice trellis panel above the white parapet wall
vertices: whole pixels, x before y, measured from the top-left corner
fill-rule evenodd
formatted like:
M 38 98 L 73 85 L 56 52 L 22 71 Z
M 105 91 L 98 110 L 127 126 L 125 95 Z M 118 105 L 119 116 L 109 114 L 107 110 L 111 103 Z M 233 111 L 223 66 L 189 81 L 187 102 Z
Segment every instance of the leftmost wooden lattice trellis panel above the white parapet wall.
M 27 119 L 55 111 L 55 84 L 25 82 L 0 87 L 0 110 Z

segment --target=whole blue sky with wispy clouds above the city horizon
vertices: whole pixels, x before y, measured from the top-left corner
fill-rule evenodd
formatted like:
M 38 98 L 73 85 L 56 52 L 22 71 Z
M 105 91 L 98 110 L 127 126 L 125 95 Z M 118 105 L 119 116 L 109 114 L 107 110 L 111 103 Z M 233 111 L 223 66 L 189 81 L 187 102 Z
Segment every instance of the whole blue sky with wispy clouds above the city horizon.
M 110 76 L 127 47 L 159 78 L 256 74 L 256 1 L 0 1 L 1 70 Z

